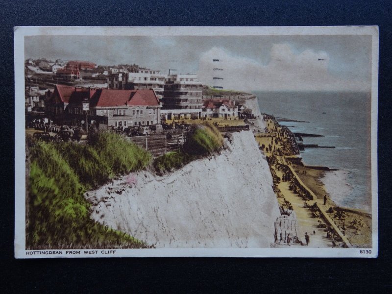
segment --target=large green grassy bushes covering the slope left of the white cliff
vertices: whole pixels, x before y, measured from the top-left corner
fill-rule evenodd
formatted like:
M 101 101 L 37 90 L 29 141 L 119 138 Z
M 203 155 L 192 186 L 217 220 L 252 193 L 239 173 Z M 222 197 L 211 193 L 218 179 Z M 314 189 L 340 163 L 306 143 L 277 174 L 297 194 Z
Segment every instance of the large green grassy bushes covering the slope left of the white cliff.
M 148 247 L 91 220 L 83 192 L 117 173 L 146 167 L 151 155 L 114 133 L 99 132 L 97 138 L 94 146 L 29 140 L 28 249 Z

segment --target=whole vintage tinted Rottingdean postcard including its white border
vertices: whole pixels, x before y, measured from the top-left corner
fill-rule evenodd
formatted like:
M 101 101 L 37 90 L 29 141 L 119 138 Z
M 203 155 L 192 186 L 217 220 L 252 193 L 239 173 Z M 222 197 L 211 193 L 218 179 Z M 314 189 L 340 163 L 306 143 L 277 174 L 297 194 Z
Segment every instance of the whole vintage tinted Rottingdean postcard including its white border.
M 377 26 L 14 40 L 16 258 L 377 257 Z

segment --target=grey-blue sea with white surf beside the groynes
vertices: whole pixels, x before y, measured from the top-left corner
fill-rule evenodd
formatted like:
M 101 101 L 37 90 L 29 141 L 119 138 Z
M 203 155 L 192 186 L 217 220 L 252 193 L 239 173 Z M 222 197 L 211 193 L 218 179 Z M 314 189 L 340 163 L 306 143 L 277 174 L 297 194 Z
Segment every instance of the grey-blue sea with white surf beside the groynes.
M 297 122 L 280 122 L 303 137 L 304 144 L 335 148 L 305 148 L 306 165 L 326 166 L 321 181 L 340 206 L 371 211 L 370 93 L 254 92 L 261 113 Z

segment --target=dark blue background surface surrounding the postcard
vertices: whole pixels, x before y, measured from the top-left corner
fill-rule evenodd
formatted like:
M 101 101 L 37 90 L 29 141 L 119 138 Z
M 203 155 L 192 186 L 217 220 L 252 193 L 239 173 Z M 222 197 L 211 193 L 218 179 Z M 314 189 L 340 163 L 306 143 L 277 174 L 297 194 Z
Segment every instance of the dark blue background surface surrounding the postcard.
M 391 1 L 2 1 L 1 288 L 7 292 L 391 291 Z M 378 259 L 14 260 L 14 64 L 16 25 L 379 25 Z M 335 290 L 332 290 L 334 288 Z M 46 291 L 44 291 L 44 289 Z M 340 292 L 339 291 L 339 292 Z

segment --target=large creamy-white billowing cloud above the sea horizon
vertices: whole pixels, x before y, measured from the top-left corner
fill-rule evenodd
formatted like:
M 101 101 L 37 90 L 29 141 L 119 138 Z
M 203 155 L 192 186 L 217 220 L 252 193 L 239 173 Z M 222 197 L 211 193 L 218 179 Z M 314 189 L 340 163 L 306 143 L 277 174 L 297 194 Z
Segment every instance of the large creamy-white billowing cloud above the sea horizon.
M 213 59 L 219 59 L 214 62 Z M 370 82 L 341 79 L 328 72 L 329 55 L 306 49 L 294 53 L 289 44 L 273 44 L 267 65 L 214 47 L 199 60 L 199 79 L 213 86 L 242 91 L 368 91 Z M 223 71 L 214 71 L 221 68 Z M 223 80 L 214 80 L 213 77 Z

